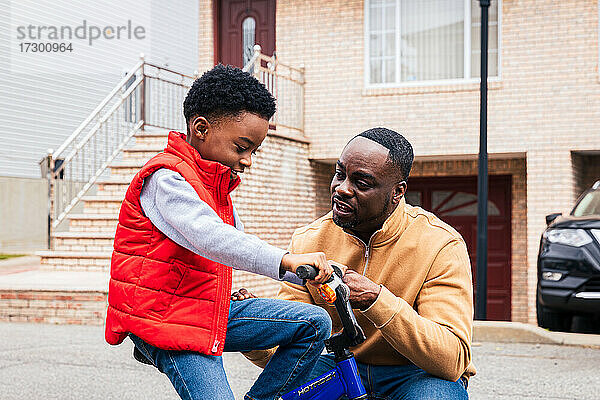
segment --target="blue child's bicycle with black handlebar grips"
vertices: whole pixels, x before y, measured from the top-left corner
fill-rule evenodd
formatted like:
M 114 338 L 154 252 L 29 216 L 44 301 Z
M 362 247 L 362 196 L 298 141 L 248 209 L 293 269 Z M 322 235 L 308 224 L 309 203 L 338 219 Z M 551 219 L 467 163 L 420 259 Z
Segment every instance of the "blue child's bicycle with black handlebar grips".
M 362 384 L 354 354 L 349 350 L 366 340 L 365 334 L 356 321 L 350 306 L 350 289 L 342 282 L 341 270 L 333 266 L 335 274 L 319 288 L 319 294 L 329 303 L 333 303 L 342 322 L 343 329 L 325 340 L 327 352 L 333 353 L 336 367 L 284 394 L 280 400 L 338 400 L 347 396 L 348 400 L 367 398 Z M 310 265 L 301 265 L 296 275 L 304 279 L 314 279 L 317 270 Z

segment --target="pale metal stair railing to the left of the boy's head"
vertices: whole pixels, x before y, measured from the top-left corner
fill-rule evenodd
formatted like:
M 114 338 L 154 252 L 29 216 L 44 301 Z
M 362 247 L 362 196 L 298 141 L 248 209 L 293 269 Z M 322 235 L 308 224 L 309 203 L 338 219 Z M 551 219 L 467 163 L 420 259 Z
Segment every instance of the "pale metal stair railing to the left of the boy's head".
M 48 180 L 48 248 L 53 230 L 137 132 L 147 126 L 185 127 L 181 104 L 194 79 L 142 55 L 58 150 L 48 150 L 40 162 Z

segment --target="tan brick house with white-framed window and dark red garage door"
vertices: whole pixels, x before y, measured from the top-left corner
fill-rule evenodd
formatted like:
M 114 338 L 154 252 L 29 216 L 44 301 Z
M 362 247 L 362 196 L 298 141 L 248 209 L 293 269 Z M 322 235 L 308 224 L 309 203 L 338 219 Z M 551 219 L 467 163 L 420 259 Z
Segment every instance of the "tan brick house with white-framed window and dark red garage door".
M 407 199 L 456 226 L 474 256 L 478 4 L 476 0 L 276 4 L 201 0 L 199 70 L 216 61 L 230 62 L 229 45 L 222 37 L 239 31 L 236 21 L 256 18 L 260 32 L 256 41 L 274 41 L 266 47 L 276 49 L 281 62 L 305 71 L 306 142 L 268 140 L 296 143 L 295 157 L 306 161 L 294 171 L 276 168 L 280 176 L 273 177 L 273 183 L 299 188 L 295 182 L 301 181 L 302 190 L 315 191 L 306 193 L 305 201 L 315 200 L 314 216 L 321 215 L 329 207 L 332 165 L 348 139 L 374 126 L 398 130 L 413 144 L 416 155 Z M 544 216 L 568 212 L 577 196 L 600 178 L 598 7 L 595 0 L 492 1 L 488 92 L 492 319 L 535 322 L 536 256 Z M 274 38 L 265 39 L 268 35 Z M 269 158 L 259 155 L 256 175 L 261 164 L 267 167 L 262 157 Z M 285 245 L 293 228 L 308 222 L 307 213 L 285 216 L 296 210 L 297 203 L 289 202 L 297 198 L 293 192 L 263 203 L 275 213 L 275 226 L 253 217 L 260 211 L 246 202 L 250 193 L 242 193 L 243 189 L 238 202 L 248 229 L 273 243 Z M 311 205 L 302 207 L 308 212 Z

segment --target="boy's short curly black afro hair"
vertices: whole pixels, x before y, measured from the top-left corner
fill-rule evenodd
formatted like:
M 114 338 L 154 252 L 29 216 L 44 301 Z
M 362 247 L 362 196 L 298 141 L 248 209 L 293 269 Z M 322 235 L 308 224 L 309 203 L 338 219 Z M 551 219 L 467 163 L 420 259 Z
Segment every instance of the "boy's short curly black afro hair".
M 183 102 L 186 122 L 195 116 L 216 122 L 244 111 L 268 120 L 275 114 L 275 98 L 252 75 L 230 65 L 218 64 L 196 79 Z

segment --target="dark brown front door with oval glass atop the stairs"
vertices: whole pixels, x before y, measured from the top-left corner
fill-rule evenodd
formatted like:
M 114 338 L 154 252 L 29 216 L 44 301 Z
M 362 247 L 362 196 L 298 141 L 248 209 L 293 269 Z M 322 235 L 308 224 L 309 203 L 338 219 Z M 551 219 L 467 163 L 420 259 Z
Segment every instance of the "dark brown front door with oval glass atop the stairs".
M 217 62 L 243 67 L 259 44 L 269 56 L 275 51 L 275 0 L 215 0 Z

